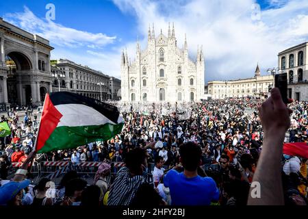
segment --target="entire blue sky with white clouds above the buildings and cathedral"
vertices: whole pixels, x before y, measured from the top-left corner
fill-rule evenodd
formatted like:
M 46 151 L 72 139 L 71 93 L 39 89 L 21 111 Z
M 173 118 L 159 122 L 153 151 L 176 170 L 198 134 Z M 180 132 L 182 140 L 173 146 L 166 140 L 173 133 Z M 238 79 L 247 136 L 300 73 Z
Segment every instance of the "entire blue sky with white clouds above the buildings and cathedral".
M 45 19 L 47 3 L 55 21 Z M 149 23 L 166 34 L 174 22 L 180 48 L 187 34 L 192 60 L 203 44 L 206 81 L 252 77 L 257 62 L 264 75 L 279 51 L 308 41 L 307 0 L 11 0 L 0 1 L 0 16 L 50 40 L 51 58 L 118 78 L 120 51 L 133 60 L 137 37 L 146 47 Z

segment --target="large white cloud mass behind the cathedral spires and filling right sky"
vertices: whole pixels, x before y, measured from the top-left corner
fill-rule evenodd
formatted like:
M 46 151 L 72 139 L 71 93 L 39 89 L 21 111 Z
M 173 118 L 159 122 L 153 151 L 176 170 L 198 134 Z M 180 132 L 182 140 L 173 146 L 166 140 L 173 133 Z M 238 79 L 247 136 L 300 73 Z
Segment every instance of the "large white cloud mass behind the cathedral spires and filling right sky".
M 186 33 L 190 55 L 203 44 L 205 79 L 252 77 L 257 62 L 262 73 L 277 66 L 277 53 L 308 39 L 308 1 L 270 0 L 272 9 L 261 11 L 261 20 L 252 21 L 253 0 L 233 1 L 149 1 L 113 0 L 125 13 L 135 14 L 138 34 L 146 44 L 149 23 L 155 33 L 175 22 L 181 47 Z M 135 48 L 133 48 L 135 49 Z M 135 51 L 135 50 L 134 50 Z

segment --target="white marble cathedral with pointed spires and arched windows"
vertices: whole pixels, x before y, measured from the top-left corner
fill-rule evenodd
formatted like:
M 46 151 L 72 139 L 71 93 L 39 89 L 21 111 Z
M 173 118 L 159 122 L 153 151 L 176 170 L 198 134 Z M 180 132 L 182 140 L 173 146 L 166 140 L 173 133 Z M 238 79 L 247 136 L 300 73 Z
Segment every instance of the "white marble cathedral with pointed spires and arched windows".
M 155 37 L 149 27 L 146 49 L 137 42 L 136 58 L 130 62 L 127 52 L 121 54 L 121 96 L 123 102 L 200 101 L 204 97 L 205 65 L 203 49 L 196 61 L 188 57 L 188 43 L 177 47 L 175 27 L 168 36 Z

